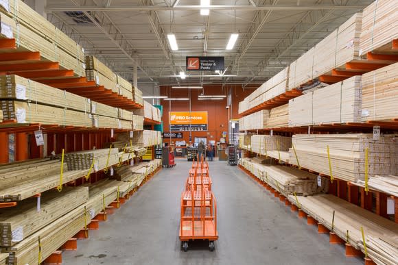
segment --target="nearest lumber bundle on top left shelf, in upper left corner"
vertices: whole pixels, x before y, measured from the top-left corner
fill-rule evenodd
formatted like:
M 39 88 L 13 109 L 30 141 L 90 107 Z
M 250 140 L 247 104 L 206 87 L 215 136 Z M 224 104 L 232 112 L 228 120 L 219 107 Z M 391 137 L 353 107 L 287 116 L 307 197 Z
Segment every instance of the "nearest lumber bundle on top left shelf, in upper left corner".
M 43 61 L 59 62 L 84 76 L 84 49 L 21 0 L 0 2 L 0 38 L 15 38 L 17 51 L 40 51 Z

